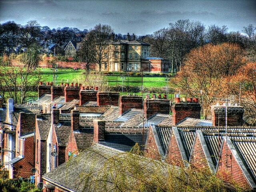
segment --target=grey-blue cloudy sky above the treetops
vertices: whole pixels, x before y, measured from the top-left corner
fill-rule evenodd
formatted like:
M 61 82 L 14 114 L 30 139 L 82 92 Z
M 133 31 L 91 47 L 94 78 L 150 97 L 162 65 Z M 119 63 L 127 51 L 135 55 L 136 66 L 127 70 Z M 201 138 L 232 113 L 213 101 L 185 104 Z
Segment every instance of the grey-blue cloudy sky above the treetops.
M 180 19 L 242 32 L 256 26 L 256 0 L 0 0 L 0 23 L 37 20 L 41 26 L 80 30 L 101 23 L 115 33 L 145 35 Z

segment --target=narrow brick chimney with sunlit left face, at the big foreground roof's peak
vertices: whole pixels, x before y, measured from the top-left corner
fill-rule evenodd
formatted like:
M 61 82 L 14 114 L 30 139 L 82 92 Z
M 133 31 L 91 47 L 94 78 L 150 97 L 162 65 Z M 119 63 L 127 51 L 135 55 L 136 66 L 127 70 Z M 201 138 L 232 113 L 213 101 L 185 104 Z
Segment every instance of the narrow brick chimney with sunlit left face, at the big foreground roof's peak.
M 105 121 L 101 119 L 93 120 L 93 141 L 99 142 L 105 140 Z

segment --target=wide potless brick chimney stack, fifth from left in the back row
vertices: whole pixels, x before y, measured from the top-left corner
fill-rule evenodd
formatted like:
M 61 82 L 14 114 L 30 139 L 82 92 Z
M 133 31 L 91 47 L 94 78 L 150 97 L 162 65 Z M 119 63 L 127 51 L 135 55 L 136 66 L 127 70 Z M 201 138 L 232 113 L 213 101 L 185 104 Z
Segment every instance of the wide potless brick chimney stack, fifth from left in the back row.
M 98 92 L 97 105 L 115 105 L 118 106 L 119 94 L 115 92 Z

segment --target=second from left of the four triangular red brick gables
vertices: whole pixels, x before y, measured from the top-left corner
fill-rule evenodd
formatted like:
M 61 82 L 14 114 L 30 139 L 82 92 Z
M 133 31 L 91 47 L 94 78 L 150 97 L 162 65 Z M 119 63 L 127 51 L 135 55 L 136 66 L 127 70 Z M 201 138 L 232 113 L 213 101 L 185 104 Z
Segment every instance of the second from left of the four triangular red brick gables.
M 165 161 L 169 164 L 173 164 L 176 166 L 183 165 L 184 163 L 176 140 L 176 136 L 174 135 L 173 132 L 170 138 L 170 144 L 166 152 Z

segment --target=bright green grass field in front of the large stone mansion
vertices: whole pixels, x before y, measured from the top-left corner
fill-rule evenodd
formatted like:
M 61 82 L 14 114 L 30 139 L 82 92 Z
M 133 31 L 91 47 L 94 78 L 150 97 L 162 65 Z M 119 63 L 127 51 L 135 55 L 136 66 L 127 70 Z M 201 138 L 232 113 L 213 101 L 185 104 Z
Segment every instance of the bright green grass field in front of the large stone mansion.
M 50 69 L 40 69 L 42 77 L 45 82 L 52 81 L 52 70 Z M 72 69 L 58 69 L 55 72 L 57 77 L 57 82 L 72 82 L 77 79 L 82 70 L 72 70 Z M 122 85 L 122 79 L 120 76 L 106 76 L 108 78 L 108 84 L 110 86 Z M 124 80 L 124 86 L 141 86 L 141 77 L 139 76 L 126 76 Z M 164 77 L 144 77 L 143 86 L 150 87 L 162 87 L 166 86 L 166 81 Z

